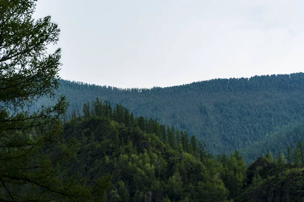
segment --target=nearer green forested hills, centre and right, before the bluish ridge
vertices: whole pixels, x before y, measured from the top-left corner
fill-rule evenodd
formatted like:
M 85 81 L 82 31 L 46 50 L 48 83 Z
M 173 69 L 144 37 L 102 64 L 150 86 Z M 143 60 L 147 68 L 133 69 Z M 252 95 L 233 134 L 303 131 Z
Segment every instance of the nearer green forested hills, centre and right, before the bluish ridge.
M 135 117 L 97 98 L 64 124 L 67 142 L 78 141 L 79 170 L 90 182 L 110 174 L 107 201 L 301 201 L 304 151 L 274 158 L 271 151 L 248 168 L 239 151 L 212 155 L 206 143 L 174 126 Z M 77 139 L 77 140 L 75 140 Z

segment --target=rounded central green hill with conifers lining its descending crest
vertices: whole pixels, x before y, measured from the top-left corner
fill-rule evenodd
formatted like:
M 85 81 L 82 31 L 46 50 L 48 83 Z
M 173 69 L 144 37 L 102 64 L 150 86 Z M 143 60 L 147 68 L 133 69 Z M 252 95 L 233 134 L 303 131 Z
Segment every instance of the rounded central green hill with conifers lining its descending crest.
M 242 189 L 246 165 L 237 151 L 226 157 L 231 165 L 225 168 L 208 153 L 206 143 L 194 135 L 189 141 L 186 131 L 153 119 L 132 118 L 121 105 L 108 108 L 109 113 L 102 112 L 106 102 L 85 106 L 94 106 L 89 117 L 75 117 L 64 124 L 66 142 L 73 138 L 81 142 L 79 162 L 70 166 L 81 169 L 88 184 L 111 175 L 108 201 L 202 201 L 202 193 L 208 201 L 225 201 L 236 195 L 230 195 L 227 187 Z M 229 177 L 235 180 L 225 182 L 221 168 L 231 170 Z

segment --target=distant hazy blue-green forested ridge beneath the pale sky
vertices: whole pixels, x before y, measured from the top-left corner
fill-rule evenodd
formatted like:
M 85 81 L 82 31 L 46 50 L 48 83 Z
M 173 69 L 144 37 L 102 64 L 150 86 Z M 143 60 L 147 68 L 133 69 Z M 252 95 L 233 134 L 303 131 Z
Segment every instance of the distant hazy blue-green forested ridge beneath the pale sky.
M 211 153 L 245 150 L 247 162 L 264 152 L 252 151 L 263 148 L 265 142 L 273 143 L 274 153 L 286 149 L 288 144 L 294 145 L 295 142 L 281 142 L 282 138 L 276 139 L 275 134 L 288 133 L 304 120 L 304 73 L 212 79 L 151 89 L 121 89 L 65 80 L 60 83 L 58 94 L 66 96 L 70 112 L 82 112 L 83 103 L 96 97 L 111 104 L 121 103 L 135 116 L 155 118 L 195 134 L 206 141 Z

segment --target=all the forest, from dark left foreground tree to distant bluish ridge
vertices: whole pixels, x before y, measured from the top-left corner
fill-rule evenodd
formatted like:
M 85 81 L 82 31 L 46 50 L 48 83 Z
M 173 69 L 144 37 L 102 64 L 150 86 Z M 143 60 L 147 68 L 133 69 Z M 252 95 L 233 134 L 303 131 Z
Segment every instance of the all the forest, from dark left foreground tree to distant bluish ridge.
M 32 19 L 35 2 L 0 1 L 0 201 L 303 201 L 302 73 L 153 89 L 60 80 L 61 49 L 47 48 L 60 29 Z

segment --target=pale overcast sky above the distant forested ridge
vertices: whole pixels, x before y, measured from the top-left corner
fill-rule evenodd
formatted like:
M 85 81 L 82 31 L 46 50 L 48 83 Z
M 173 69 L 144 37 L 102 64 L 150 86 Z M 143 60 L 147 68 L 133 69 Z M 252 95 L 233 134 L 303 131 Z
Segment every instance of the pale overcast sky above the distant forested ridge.
M 39 0 L 60 77 L 150 88 L 304 71 L 304 1 Z M 51 49 L 51 48 L 50 48 Z

